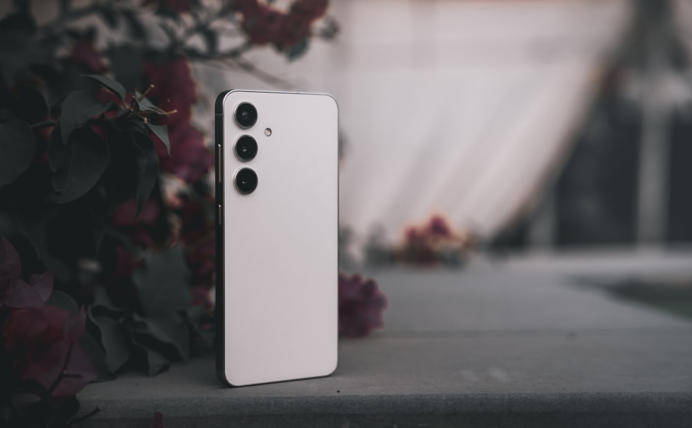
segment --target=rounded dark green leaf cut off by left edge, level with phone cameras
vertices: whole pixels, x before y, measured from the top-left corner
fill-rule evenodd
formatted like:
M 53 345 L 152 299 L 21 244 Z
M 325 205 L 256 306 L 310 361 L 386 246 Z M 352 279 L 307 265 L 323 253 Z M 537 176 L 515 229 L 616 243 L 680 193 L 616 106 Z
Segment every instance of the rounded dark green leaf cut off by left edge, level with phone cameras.
M 0 123 L 0 186 L 26 171 L 35 150 L 36 138 L 28 124 L 17 119 Z

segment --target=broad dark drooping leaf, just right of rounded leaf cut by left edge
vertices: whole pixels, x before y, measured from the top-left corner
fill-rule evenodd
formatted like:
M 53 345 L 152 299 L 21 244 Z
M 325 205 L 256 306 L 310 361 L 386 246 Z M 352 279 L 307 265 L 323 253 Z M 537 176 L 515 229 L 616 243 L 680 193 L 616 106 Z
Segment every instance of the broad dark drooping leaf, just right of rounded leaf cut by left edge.
M 66 147 L 51 144 L 48 161 L 56 171 L 53 187 L 57 192 L 53 201 L 68 203 L 84 196 L 98 183 L 108 160 L 108 145 L 89 127 L 75 133 Z M 67 167 L 65 164 L 68 164 Z

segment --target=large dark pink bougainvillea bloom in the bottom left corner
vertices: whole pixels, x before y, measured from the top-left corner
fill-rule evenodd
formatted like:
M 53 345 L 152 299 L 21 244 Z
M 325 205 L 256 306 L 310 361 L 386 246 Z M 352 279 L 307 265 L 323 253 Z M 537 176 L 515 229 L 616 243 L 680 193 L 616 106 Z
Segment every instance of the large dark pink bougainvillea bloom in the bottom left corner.
M 19 377 L 38 382 L 53 397 L 73 396 L 95 379 L 93 364 L 78 342 L 85 321 L 83 308 L 71 318 L 52 306 L 13 310 L 3 336 Z

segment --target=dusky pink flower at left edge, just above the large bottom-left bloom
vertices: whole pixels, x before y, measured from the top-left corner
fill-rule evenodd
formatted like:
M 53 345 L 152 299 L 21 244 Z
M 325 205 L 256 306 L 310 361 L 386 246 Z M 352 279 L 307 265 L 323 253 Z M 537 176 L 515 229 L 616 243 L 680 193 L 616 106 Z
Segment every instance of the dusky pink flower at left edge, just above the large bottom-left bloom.
M 26 283 L 20 277 L 17 250 L 4 236 L 0 239 L 0 307 L 37 308 L 53 291 L 53 272 L 33 275 Z

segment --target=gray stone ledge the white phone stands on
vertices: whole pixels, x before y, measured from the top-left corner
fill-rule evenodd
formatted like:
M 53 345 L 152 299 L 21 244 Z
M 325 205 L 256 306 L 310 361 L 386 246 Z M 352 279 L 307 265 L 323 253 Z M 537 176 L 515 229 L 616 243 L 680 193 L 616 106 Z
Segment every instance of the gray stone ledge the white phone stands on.
M 201 358 L 90 385 L 85 426 L 151 426 L 157 409 L 169 428 L 692 426 L 692 323 L 576 279 L 692 273 L 692 258 L 616 256 L 373 272 L 387 326 L 342 340 L 334 375 L 230 389 Z

